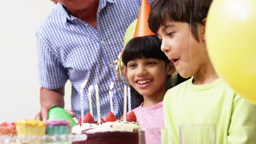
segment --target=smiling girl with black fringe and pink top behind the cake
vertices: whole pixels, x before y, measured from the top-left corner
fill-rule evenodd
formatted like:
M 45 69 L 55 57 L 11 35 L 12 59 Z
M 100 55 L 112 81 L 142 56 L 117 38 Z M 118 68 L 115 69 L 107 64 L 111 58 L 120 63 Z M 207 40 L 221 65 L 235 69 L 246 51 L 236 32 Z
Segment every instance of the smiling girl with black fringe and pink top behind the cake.
M 161 51 L 158 37 L 149 35 L 133 38 L 126 45 L 122 59 L 125 77 L 131 89 L 136 90 L 135 94 L 132 93 L 133 97 L 143 97 L 144 100 L 133 110 L 141 128 L 164 128 L 162 100 L 167 91 L 168 77 L 176 69 Z M 177 80 L 177 75 L 173 77 L 176 77 L 176 84 L 184 81 L 181 77 Z M 149 141 L 149 136 L 146 135 L 146 139 Z

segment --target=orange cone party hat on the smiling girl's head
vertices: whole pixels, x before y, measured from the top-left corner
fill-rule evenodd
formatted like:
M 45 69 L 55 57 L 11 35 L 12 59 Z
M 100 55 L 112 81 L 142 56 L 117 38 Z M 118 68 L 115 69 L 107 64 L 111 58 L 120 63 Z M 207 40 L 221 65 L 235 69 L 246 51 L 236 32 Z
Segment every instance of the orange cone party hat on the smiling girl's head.
M 139 10 L 138 21 L 133 38 L 155 35 L 148 27 L 148 16 L 150 13 L 150 4 L 148 0 L 142 0 Z

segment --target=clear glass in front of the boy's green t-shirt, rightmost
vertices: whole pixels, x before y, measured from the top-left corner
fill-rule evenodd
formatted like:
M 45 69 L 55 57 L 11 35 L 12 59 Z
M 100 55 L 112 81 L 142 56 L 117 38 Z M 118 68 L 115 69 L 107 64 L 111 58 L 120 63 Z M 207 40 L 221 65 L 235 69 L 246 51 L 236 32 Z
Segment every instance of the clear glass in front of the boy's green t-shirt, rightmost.
M 179 127 L 181 144 L 216 144 L 216 127 L 213 124 L 185 124 Z

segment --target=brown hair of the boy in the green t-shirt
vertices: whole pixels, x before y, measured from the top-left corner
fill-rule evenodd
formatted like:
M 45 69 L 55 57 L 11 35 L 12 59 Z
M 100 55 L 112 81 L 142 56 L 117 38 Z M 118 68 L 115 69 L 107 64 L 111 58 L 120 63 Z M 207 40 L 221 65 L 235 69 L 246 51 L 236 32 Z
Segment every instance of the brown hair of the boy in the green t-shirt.
M 165 26 L 168 20 L 191 21 L 191 33 L 199 41 L 197 25 L 204 23 L 212 0 L 155 0 L 152 2 L 148 23 L 152 32 L 156 33 L 160 25 Z M 190 17 L 191 14 L 191 17 Z

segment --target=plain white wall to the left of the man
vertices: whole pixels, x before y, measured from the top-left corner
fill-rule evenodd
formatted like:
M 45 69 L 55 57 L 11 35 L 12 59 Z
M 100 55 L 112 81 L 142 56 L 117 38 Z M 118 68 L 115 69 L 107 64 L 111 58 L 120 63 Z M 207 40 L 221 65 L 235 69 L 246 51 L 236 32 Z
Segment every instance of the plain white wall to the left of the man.
M 35 32 L 55 5 L 50 0 L 2 1 L 0 121 L 34 118 L 40 109 Z M 65 109 L 71 109 L 70 82 Z

